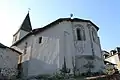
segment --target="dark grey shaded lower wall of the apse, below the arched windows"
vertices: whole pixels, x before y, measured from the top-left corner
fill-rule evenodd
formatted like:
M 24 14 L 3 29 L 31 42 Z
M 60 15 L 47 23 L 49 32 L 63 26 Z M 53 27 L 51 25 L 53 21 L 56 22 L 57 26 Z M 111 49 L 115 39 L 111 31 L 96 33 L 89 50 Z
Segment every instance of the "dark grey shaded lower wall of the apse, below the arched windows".
M 92 55 L 82 55 L 80 57 L 76 57 L 76 66 L 81 73 L 104 72 L 103 60 L 97 56 L 93 57 Z

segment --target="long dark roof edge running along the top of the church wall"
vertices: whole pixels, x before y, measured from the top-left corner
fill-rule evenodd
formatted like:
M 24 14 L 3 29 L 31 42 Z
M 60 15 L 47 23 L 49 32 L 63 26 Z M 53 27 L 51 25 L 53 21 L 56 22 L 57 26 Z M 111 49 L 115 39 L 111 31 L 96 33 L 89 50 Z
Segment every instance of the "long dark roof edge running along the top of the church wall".
M 55 20 L 55 21 L 47 24 L 47 25 L 44 26 L 44 27 L 36 28 L 36 29 L 31 30 L 31 31 L 30 31 L 26 36 L 24 36 L 22 39 L 18 40 L 18 41 L 15 42 L 14 44 L 12 44 L 12 46 L 18 44 L 18 43 L 21 42 L 24 38 L 26 38 L 27 36 L 29 36 L 29 35 L 31 35 L 31 34 L 37 34 L 38 32 L 42 32 L 42 31 L 44 31 L 44 30 L 52 27 L 53 25 L 56 25 L 56 24 L 58 24 L 58 23 L 60 23 L 60 22 L 63 22 L 63 21 L 89 22 L 89 23 L 91 23 L 92 25 L 94 25 L 94 27 L 95 27 L 97 30 L 99 30 L 99 28 L 98 28 L 94 23 L 92 23 L 90 20 L 84 20 L 84 19 L 79 19 L 79 18 L 73 18 L 73 19 L 71 19 L 71 18 L 59 18 L 59 19 L 57 19 L 57 20 Z

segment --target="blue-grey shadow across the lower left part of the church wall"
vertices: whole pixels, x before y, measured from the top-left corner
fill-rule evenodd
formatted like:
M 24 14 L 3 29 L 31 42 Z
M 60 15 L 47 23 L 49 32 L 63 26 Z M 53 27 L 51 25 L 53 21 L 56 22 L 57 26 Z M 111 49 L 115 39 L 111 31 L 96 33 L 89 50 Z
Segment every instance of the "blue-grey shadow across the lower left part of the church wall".
M 49 62 L 49 63 L 48 63 Z M 42 61 L 40 59 L 32 58 L 21 64 L 21 74 L 25 77 L 36 76 L 40 74 L 52 74 L 57 71 L 57 64 L 50 63 L 50 61 Z

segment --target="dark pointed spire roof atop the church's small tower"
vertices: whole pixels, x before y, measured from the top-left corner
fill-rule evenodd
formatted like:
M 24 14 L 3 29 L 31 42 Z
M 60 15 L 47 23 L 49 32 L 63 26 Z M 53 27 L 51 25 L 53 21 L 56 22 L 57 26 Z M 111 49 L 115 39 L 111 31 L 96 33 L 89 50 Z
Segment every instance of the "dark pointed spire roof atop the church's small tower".
M 25 17 L 22 25 L 20 26 L 21 30 L 30 32 L 32 30 L 32 26 L 31 26 L 31 22 L 30 22 L 30 17 L 29 17 L 29 12 L 27 14 L 27 16 Z

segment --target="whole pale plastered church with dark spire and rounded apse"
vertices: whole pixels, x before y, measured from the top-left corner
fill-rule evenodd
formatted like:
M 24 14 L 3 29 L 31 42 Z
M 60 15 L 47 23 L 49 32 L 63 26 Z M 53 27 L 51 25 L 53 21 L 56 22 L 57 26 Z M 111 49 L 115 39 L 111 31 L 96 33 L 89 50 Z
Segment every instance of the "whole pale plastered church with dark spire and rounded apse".
M 70 73 L 102 72 L 99 28 L 90 20 L 59 18 L 32 29 L 29 13 L 13 35 L 11 48 L 23 53 L 21 71 L 25 77 L 52 74 L 66 64 Z M 91 67 L 89 67 L 91 66 Z

